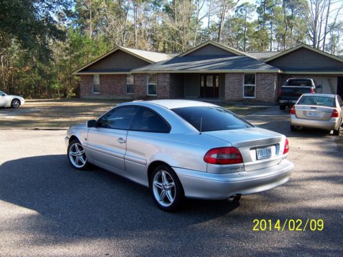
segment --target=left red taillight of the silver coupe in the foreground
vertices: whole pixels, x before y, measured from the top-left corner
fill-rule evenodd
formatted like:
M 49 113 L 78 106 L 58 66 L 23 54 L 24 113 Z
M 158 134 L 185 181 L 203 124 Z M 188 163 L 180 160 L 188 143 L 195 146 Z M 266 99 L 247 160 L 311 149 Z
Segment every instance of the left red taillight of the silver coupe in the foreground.
M 219 147 L 207 151 L 204 161 L 211 164 L 238 164 L 243 163 L 243 158 L 236 147 Z

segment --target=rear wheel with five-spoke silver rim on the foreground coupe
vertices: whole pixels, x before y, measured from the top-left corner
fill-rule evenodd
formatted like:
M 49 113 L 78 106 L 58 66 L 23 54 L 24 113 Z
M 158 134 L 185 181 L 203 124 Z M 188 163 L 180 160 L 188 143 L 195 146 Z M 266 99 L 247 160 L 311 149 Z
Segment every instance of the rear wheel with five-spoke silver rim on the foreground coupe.
M 150 193 L 158 208 L 167 212 L 178 210 L 185 198 L 178 175 L 167 165 L 159 165 L 152 172 Z

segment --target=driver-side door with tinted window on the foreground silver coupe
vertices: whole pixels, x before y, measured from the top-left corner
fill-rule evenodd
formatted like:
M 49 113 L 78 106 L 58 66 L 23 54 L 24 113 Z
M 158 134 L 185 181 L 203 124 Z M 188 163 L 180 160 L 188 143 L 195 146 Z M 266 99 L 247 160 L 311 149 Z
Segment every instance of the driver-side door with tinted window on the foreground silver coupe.
M 137 110 L 137 106 L 114 108 L 88 130 L 86 147 L 94 164 L 110 171 L 125 170 L 126 137 Z

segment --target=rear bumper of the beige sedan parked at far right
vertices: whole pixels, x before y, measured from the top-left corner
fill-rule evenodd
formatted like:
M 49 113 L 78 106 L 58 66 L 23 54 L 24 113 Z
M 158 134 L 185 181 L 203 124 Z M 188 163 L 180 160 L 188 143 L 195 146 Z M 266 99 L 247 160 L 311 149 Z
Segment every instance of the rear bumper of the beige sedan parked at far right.
M 295 114 L 290 115 L 290 122 L 292 126 L 313 127 L 321 130 L 338 130 L 340 126 L 339 118 L 331 118 L 329 121 L 318 121 L 311 119 L 300 119 Z

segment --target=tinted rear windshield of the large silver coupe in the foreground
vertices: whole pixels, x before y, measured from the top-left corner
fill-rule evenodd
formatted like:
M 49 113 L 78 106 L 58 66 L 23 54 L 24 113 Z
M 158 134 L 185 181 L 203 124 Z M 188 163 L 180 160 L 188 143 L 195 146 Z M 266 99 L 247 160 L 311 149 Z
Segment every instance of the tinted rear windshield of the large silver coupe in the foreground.
M 215 106 L 196 106 L 172 109 L 182 119 L 191 123 L 198 131 L 236 130 L 253 127 L 248 121 L 239 118 L 224 108 Z

